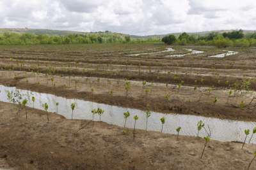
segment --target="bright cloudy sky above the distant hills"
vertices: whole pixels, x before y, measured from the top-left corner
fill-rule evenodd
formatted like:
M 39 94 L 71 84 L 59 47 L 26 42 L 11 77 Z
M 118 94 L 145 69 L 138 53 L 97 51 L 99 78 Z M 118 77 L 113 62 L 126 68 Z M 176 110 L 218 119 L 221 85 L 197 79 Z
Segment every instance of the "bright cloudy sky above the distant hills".
M 253 0 L 1 0 L 0 28 L 134 35 L 256 29 Z

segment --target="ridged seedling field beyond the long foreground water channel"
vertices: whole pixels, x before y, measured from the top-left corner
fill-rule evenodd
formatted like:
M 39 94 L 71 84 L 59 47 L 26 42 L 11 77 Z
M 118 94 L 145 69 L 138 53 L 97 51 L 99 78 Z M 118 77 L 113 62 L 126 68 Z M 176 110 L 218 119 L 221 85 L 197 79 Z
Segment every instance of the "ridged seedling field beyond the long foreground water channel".
M 209 46 L 2 46 L 0 76 L 6 86 L 72 99 L 254 121 L 255 49 L 228 50 L 218 58 L 210 56 L 227 52 Z

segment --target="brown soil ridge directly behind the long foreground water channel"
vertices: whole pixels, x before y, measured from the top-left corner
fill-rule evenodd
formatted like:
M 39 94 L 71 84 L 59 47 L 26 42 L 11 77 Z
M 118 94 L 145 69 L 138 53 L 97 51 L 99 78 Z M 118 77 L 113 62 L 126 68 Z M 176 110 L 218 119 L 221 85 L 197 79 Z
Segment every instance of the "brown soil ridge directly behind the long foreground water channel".
M 205 81 L 211 81 L 211 76 L 200 77 L 198 75 L 194 75 L 194 77 L 198 79 L 198 82 L 200 82 L 200 78 L 204 77 L 204 83 L 202 83 L 200 91 L 198 87 L 194 92 L 193 86 L 190 87 L 186 84 L 180 88 L 179 94 L 175 94 L 179 89 L 177 87 L 177 83 L 173 83 L 175 85 L 168 84 L 168 87 L 166 87 L 165 83 L 154 83 L 153 85 L 146 83 L 143 88 L 141 81 L 136 81 L 136 76 L 134 76 L 134 80 L 129 81 L 129 87 L 131 87 L 131 89 L 128 92 L 124 88 L 124 78 L 122 78 L 122 80 L 120 78 L 119 85 L 116 83 L 117 80 L 112 78 L 110 81 L 110 88 L 107 79 L 100 78 L 98 89 L 98 81 L 97 78 L 94 77 L 87 77 L 88 81 L 86 81 L 86 77 L 71 77 L 69 82 L 67 76 L 61 78 L 55 76 L 54 83 L 56 83 L 56 87 L 54 89 L 54 87 L 52 87 L 51 79 L 48 78 L 47 83 L 43 74 L 39 74 L 38 78 L 37 76 L 34 78 L 30 76 L 28 78 L 28 83 L 26 83 L 26 78 L 24 78 L 22 74 L 18 74 L 18 76 L 14 77 L 12 74 L 10 76 L 10 73 L 4 72 L 3 76 L 8 77 L 5 80 L 0 80 L 0 83 L 3 85 L 17 87 L 17 89 L 31 90 L 34 92 L 55 94 L 56 96 L 66 97 L 69 99 L 82 99 L 84 101 L 138 108 L 141 110 L 145 110 L 147 104 L 150 104 L 150 110 L 161 111 L 164 113 L 173 113 L 173 111 L 175 111 L 180 114 L 202 115 L 205 117 L 250 121 L 256 120 L 255 109 L 253 109 L 255 108 L 254 105 L 256 103 L 256 99 L 252 101 L 254 94 L 243 94 L 243 96 L 237 97 L 237 92 L 234 96 L 233 90 L 232 96 L 229 97 L 228 92 L 230 90 L 225 89 L 225 83 L 222 83 L 224 84 L 224 87 L 221 87 L 220 85 L 220 87 L 213 89 L 212 92 L 209 93 L 209 87 L 207 87 L 207 83 L 205 83 Z M 197 78 L 197 76 L 199 78 Z M 75 78 L 77 79 L 77 83 L 74 81 Z M 137 80 L 139 78 L 140 76 L 138 76 Z M 191 76 L 188 76 L 186 81 L 189 81 L 189 78 L 191 78 Z M 164 80 L 164 77 L 161 77 L 161 79 Z M 229 81 L 232 81 L 233 79 L 234 82 L 236 82 L 237 77 L 228 77 Z M 170 79 L 166 78 L 166 80 Z M 39 87 L 38 81 L 40 82 Z M 192 82 L 193 78 L 191 78 L 191 83 Z M 91 92 L 90 83 L 92 83 L 94 92 Z M 65 89 L 65 85 L 68 86 L 67 89 Z M 75 85 L 77 85 L 77 88 L 74 87 Z M 200 83 L 198 83 L 198 85 L 200 85 Z M 255 82 L 253 82 L 252 85 L 255 85 Z M 150 90 L 147 95 L 145 94 L 145 89 Z M 109 90 L 113 90 L 112 99 Z M 166 100 L 166 96 L 169 96 L 168 100 Z M 213 104 L 214 97 L 218 97 L 218 102 L 216 104 Z M 198 99 L 200 99 L 200 101 L 198 101 Z M 191 104 L 189 103 L 189 100 L 192 100 Z M 228 104 L 226 104 L 227 101 Z M 246 106 L 241 110 L 234 107 L 238 107 L 241 101 L 244 101 L 244 106 L 252 101 L 252 105 Z M 234 104 L 234 106 L 232 106 L 232 104 Z

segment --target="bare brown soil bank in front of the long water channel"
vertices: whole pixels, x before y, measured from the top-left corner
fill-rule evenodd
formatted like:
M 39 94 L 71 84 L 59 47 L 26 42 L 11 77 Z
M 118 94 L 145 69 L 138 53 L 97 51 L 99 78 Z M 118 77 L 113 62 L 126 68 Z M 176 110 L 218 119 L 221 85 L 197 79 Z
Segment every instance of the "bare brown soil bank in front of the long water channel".
M 202 138 L 178 141 L 174 134 L 136 129 L 133 139 L 134 129 L 56 113 L 49 113 L 47 123 L 45 111 L 28 107 L 28 120 L 24 107 L 17 120 L 13 104 L 0 104 L 0 169 L 247 169 L 256 150 L 253 144 L 241 150 L 242 143 L 211 140 L 200 159 Z

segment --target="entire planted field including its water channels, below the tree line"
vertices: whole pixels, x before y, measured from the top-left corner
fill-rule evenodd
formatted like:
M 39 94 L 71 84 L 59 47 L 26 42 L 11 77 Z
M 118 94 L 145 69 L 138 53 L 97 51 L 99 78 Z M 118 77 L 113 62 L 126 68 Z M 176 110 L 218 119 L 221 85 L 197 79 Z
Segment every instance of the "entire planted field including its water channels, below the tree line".
M 3 125 L 6 127 L 4 134 L 10 134 L 10 137 L 2 139 L 2 142 L 6 143 L 13 139 L 11 147 L 13 150 L 9 152 L 11 157 L 17 159 L 16 152 L 20 154 L 20 157 L 33 157 L 33 154 L 40 153 L 40 150 L 44 148 L 44 146 L 36 145 L 37 141 L 34 140 L 40 137 L 42 143 L 49 147 L 47 152 L 50 154 L 49 156 L 48 153 L 42 152 L 40 156 L 37 156 L 37 159 L 47 160 L 49 162 L 47 165 L 45 162 L 33 164 L 36 160 L 25 159 L 22 160 L 28 161 L 26 166 L 12 160 L 8 160 L 8 163 L 13 166 L 23 166 L 25 169 L 33 169 L 32 167 L 42 167 L 42 169 L 54 167 L 56 169 L 60 166 L 64 169 L 71 167 L 83 169 L 81 163 L 85 161 L 83 154 L 87 154 L 86 159 L 90 160 L 84 163 L 87 169 L 122 169 L 122 166 L 125 167 L 124 169 L 147 169 L 145 167 L 148 169 L 159 167 L 161 169 L 164 167 L 168 169 L 169 167 L 173 169 L 191 169 L 191 167 L 193 169 L 216 169 L 217 166 L 220 166 L 217 169 L 227 169 L 234 164 L 238 169 L 245 169 L 255 150 L 253 144 L 245 144 L 243 152 L 240 148 L 243 145 L 240 141 L 245 138 L 243 128 L 252 130 L 256 126 L 254 94 L 256 82 L 253 81 L 256 75 L 255 60 L 256 48 L 220 49 L 213 46 L 140 44 L 0 46 L 0 84 L 2 84 L 0 89 L 10 92 L 12 87 L 16 87 L 27 92 L 30 98 L 33 96 L 30 92 L 34 92 L 36 100 L 34 103 L 30 98 L 28 99 L 27 106 L 30 107 L 28 107 L 28 120 L 26 120 L 27 110 L 19 110 L 19 119 L 27 121 L 24 123 L 14 119 L 18 117 L 18 109 L 14 107 L 13 110 L 14 104 L 3 103 L 3 101 L 8 101 L 6 100 L 8 92 L 0 93 L 1 104 L 5 107 L 2 113 L 8 113 L 4 115 L 5 117 L 1 117 L 1 122 L 6 121 Z M 42 107 L 44 104 L 40 101 L 41 99 L 49 104 L 47 116 L 45 116 L 45 111 L 38 110 L 39 106 Z M 74 114 L 70 108 L 71 101 L 67 99 L 74 99 L 76 104 Z M 80 106 L 83 101 L 93 102 L 92 106 L 96 108 L 90 108 L 89 105 Z M 57 102 L 60 103 L 58 111 L 60 115 L 56 114 Z M 32 107 L 34 104 L 35 109 Z M 108 110 L 114 108 L 117 111 L 111 111 L 113 114 L 109 114 L 108 117 L 104 113 L 105 115 L 101 117 L 103 122 L 99 122 L 100 117 L 89 115 L 89 113 L 99 106 L 103 107 L 102 104 L 108 104 L 106 106 Z M 79 111 L 76 111 L 77 109 Z M 134 129 L 131 128 L 135 127 L 134 113 L 132 113 L 135 109 L 139 119 L 138 122 L 136 120 L 134 139 L 132 134 Z M 148 122 L 146 122 L 146 116 L 142 117 L 147 110 L 153 112 Z M 118 111 L 122 113 L 118 115 Z M 125 118 L 122 120 L 125 111 L 130 111 L 132 116 L 127 122 Z M 172 113 L 175 115 L 171 115 Z M 160 120 L 163 115 L 165 115 L 166 124 L 162 124 L 164 122 Z M 202 120 L 208 121 L 207 125 L 209 124 L 209 129 L 212 129 L 212 138 L 219 140 L 210 141 L 212 144 L 205 148 L 203 156 L 205 162 L 199 159 L 205 141 L 193 136 L 211 138 L 211 134 L 208 134 L 206 124 L 207 130 L 202 129 L 204 132 L 200 131 L 200 133 L 197 131 L 196 123 L 200 120 L 199 117 L 196 120 L 195 116 L 205 117 Z M 75 120 L 69 121 L 66 118 Z M 90 123 L 92 118 L 97 121 L 94 122 L 94 127 Z M 226 121 L 230 129 L 226 129 L 228 125 L 221 126 L 223 131 L 214 128 L 213 125 L 218 124 L 217 119 L 218 121 L 225 119 L 222 124 Z M 195 129 L 189 131 L 193 121 Z M 120 127 L 124 122 L 126 127 Z M 12 128 L 6 124 L 12 125 Z M 81 130 L 86 132 L 74 133 L 86 124 L 89 124 L 84 128 L 86 130 Z M 141 129 L 147 124 L 150 124 L 148 125 L 150 132 L 148 136 L 145 136 L 145 131 Z M 179 141 L 175 135 L 175 129 L 166 129 L 172 128 L 172 125 L 177 126 L 175 128 L 181 127 Z M 20 133 L 16 134 L 11 129 L 16 129 Z M 234 134 L 228 134 L 232 131 L 231 129 L 234 130 Z M 127 136 L 124 135 L 124 131 L 128 132 Z M 30 155 L 24 155 L 25 153 L 19 149 L 15 151 L 14 147 L 17 145 L 15 143 L 22 143 L 22 140 L 25 143 L 24 139 L 27 138 L 25 134 L 34 140 L 29 141 L 31 148 L 25 144 L 22 145 L 31 152 Z M 219 134 L 221 137 L 218 138 Z M 19 138 L 15 138 L 16 135 Z M 250 138 L 248 137 L 245 143 L 248 143 Z M 150 143 L 150 140 L 154 144 Z M 169 146 L 169 140 L 172 140 L 172 146 Z M 236 142 L 221 142 L 232 140 Z M 49 145 L 49 143 L 54 143 L 56 146 Z M 255 138 L 252 138 L 251 143 L 255 143 Z M 54 149 L 59 144 L 61 148 Z M 181 146 L 182 149 L 180 149 Z M 7 146 L 3 146 L 3 150 L 4 147 Z M 67 154 L 65 150 L 70 152 L 75 150 L 80 155 L 71 153 L 63 159 L 63 155 Z M 188 152 L 188 155 L 182 155 L 183 152 Z M 163 155 L 156 156 L 160 153 Z M 6 154 L 0 157 L 7 157 Z M 236 155 L 236 159 L 232 155 Z M 52 162 L 51 156 L 55 159 Z M 170 157 L 172 160 L 168 160 Z M 208 160 L 210 157 L 215 162 Z M 79 163 L 75 159 L 79 160 Z M 101 162 L 102 165 L 99 162 L 100 159 L 105 161 Z M 54 166 L 53 162 L 56 161 L 61 161 L 60 165 Z M 205 166 L 206 164 L 208 166 Z M 251 168 L 255 166 L 254 163 Z

